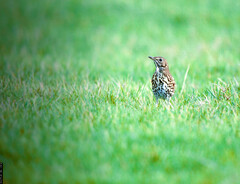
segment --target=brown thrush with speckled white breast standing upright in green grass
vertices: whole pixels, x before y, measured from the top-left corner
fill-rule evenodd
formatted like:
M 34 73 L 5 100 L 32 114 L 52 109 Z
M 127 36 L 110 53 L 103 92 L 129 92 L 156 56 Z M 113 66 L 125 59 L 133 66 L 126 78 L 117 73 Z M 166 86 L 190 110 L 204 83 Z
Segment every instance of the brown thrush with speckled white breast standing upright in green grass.
M 170 101 L 175 92 L 175 80 L 169 72 L 167 60 L 164 57 L 148 56 L 156 67 L 152 76 L 152 92 L 156 98 L 156 106 L 158 106 L 158 99 Z

